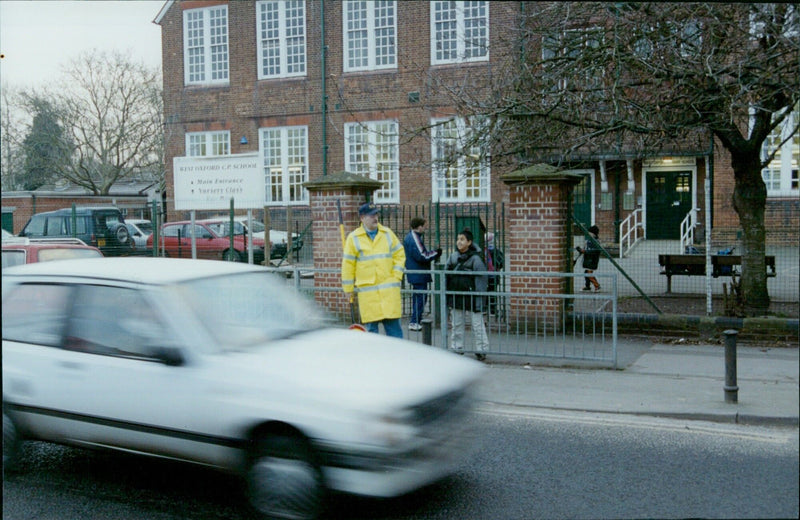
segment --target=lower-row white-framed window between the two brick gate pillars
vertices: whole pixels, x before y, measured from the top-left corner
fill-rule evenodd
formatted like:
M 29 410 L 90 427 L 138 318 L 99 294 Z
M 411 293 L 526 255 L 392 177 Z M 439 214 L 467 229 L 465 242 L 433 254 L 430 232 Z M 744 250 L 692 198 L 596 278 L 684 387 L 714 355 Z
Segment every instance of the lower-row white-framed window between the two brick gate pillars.
M 435 119 L 431 123 L 433 200 L 489 201 L 491 168 L 480 144 L 471 139 L 476 130 L 461 118 Z

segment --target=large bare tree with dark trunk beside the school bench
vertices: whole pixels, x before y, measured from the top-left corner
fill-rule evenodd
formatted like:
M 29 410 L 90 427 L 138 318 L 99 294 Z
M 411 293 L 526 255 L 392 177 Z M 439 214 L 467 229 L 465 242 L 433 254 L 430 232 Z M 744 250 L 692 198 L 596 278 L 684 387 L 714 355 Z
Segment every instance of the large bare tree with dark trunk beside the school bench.
M 515 7 L 520 9 L 520 7 Z M 525 2 L 492 49 L 501 69 L 442 83 L 464 114 L 492 121 L 493 159 L 730 153 L 743 230 L 745 311 L 769 308 L 762 148 L 800 100 L 796 4 Z M 796 134 L 797 128 L 792 134 Z

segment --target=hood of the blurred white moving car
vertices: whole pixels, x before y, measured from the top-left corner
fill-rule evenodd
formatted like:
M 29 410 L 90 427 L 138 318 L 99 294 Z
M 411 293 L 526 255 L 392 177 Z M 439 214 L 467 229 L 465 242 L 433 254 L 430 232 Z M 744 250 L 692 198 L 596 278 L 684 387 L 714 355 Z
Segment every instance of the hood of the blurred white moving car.
M 240 381 L 302 388 L 337 407 L 402 408 L 477 381 L 484 365 L 410 341 L 367 332 L 321 329 L 223 356 Z

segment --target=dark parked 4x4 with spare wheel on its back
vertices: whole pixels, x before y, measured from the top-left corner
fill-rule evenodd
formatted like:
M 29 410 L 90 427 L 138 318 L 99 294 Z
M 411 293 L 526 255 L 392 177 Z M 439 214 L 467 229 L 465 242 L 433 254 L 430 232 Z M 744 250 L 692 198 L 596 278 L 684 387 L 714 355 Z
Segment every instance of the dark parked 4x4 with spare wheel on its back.
M 28 238 L 78 238 L 100 249 L 104 256 L 122 256 L 133 252 L 133 241 L 119 208 L 78 207 L 75 210 L 75 229 L 72 228 L 72 209 L 64 208 L 35 214 L 19 235 Z

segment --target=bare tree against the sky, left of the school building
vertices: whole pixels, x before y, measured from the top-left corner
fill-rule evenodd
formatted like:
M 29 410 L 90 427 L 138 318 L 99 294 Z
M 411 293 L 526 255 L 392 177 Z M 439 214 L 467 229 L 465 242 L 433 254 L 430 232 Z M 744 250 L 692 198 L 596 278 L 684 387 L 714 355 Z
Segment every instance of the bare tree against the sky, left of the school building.
M 73 144 L 63 177 L 95 194 L 122 179 L 163 180 L 159 72 L 129 56 L 91 52 L 67 69 L 55 94 Z

